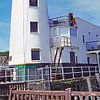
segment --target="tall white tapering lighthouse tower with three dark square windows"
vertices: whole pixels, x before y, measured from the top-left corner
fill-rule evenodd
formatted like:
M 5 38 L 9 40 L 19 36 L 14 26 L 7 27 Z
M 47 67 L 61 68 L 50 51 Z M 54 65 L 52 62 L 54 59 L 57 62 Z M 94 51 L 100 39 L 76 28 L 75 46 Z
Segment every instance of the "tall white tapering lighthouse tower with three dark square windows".
M 12 0 L 9 65 L 50 63 L 46 0 Z

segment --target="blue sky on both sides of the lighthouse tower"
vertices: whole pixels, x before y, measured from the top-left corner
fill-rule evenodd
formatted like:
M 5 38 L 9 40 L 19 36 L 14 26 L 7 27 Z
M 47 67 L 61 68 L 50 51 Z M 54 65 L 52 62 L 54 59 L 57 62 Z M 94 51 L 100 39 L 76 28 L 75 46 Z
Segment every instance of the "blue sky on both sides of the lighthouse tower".
M 0 0 L 0 51 L 9 50 L 11 1 Z M 76 16 L 100 26 L 100 0 L 48 0 L 49 17 Z

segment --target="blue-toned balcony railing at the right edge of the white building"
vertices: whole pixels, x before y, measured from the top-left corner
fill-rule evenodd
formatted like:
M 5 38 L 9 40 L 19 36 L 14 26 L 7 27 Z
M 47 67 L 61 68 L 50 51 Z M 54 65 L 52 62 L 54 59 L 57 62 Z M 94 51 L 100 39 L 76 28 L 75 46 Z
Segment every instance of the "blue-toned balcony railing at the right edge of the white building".
M 87 51 L 100 50 L 100 41 L 90 41 L 86 43 Z

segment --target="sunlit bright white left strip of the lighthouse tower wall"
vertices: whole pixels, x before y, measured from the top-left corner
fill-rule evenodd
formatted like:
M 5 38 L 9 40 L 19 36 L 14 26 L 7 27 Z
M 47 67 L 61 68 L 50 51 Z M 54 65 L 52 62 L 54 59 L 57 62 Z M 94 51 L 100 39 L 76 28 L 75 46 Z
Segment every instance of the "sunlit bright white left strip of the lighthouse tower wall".
M 24 63 L 24 36 L 23 36 L 23 1 L 13 0 L 10 32 L 10 56 L 9 64 Z

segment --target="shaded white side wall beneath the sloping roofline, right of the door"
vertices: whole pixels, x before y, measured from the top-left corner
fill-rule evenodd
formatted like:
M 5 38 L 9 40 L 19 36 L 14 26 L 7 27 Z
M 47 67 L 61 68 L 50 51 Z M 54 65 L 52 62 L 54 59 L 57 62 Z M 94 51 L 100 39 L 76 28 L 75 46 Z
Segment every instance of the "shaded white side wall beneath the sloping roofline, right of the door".
M 90 41 L 97 41 L 100 38 L 96 37 L 96 34 L 100 34 L 100 27 L 96 26 L 94 24 L 91 24 L 85 20 L 82 20 L 80 18 L 77 18 L 77 25 L 78 25 L 78 45 L 79 45 L 79 59 L 82 61 L 84 59 L 85 62 L 87 62 L 87 49 L 86 49 L 86 42 Z M 89 34 L 90 33 L 90 34 Z M 85 43 L 82 43 L 82 36 L 85 36 Z M 91 62 L 95 63 L 95 56 L 91 56 L 91 59 L 93 59 Z

